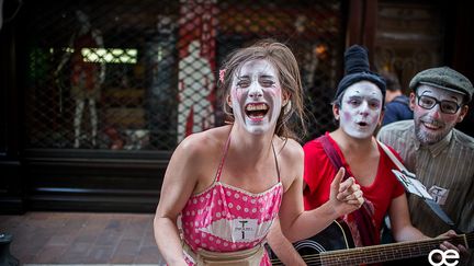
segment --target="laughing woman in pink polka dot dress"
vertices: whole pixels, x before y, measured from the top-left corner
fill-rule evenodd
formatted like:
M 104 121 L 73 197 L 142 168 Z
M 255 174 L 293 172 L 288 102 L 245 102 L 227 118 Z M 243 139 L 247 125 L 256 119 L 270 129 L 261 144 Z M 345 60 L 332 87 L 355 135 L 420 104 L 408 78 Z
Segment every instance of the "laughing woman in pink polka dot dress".
M 340 170 L 328 203 L 304 211 L 304 155 L 294 140 L 294 128 L 304 128 L 303 90 L 285 45 L 236 50 L 219 89 L 228 125 L 185 138 L 165 174 L 154 229 L 169 265 L 270 265 L 263 243 L 276 216 L 296 241 L 362 205 L 359 186 L 341 182 Z

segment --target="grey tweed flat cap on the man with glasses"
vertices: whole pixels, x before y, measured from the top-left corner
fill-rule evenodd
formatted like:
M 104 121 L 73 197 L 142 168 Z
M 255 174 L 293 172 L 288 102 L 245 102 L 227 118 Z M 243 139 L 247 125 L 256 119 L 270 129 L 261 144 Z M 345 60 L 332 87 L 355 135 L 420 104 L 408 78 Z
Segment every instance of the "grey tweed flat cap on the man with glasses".
M 462 73 L 449 67 L 430 68 L 417 73 L 410 81 L 409 88 L 415 91 L 420 84 L 462 93 L 471 102 L 474 88 L 471 81 Z

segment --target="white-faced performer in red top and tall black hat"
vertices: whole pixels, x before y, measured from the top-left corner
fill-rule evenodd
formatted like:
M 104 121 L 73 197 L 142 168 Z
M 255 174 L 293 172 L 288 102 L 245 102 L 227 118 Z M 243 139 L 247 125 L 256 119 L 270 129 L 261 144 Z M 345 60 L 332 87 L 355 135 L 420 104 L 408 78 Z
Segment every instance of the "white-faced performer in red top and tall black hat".
M 346 176 L 356 178 L 364 197 L 360 209 L 339 219 L 350 229 L 356 246 L 380 244 L 385 213 L 396 241 L 428 239 L 411 225 L 404 187 L 391 172 L 396 166 L 373 137 L 383 117 L 385 81 L 370 71 L 363 47 L 350 47 L 345 60 L 346 76 L 332 104 L 339 128 L 303 148 L 305 209 L 317 209 L 330 198 L 334 176 L 343 166 Z M 280 258 L 294 256 L 274 252 Z

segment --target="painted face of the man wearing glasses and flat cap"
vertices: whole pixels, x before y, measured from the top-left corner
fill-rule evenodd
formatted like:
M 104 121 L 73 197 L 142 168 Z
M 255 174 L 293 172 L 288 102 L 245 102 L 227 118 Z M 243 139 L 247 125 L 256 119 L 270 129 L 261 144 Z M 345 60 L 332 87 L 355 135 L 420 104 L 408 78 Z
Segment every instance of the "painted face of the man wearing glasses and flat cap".
M 438 101 L 452 101 L 462 106 L 463 95 L 430 85 L 420 85 L 418 95 L 427 95 Z M 460 109 L 455 114 L 444 114 L 440 105 L 431 109 L 418 105 L 418 97 L 411 96 L 414 106 L 415 134 L 421 144 L 432 144 L 443 139 L 458 123 Z

